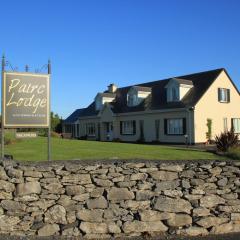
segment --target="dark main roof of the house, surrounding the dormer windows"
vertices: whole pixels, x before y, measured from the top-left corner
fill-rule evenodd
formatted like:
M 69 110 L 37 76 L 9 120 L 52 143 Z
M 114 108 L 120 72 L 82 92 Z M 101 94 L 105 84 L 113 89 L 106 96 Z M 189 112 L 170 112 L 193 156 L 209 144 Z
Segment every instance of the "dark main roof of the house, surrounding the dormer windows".
M 168 78 L 168 79 L 133 85 L 133 86 L 138 86 L 141 89 L 151 89 L 151 94 L 146 99 L 144 99 L 144 101 L 142 101 L 138 106 L 135 106 L 135 107 L 127 106 L 127 93 L 130 90 L 130 88 L 132 88 L 133 86 L 118 88 L 114 93 L 116 94 L 115 100 L 109 104 L 111 105 L 111 109 L 114 113 L 138 112 L 138 111 L 144 111 L 146 109 L 160 110 L 160 109 L 193 107 L 197 104 L 197 102 L 201 99 L 203 94 L 208 90 L 208 88 L 211 86 L 211 84 L 215 81 L 215 79 L 219 76 L 219 74 L 222 71 L 225 71 L 225 70 L 223 68 L 220 68 L 220 69 L 215 69 L 215 70 L 206 71 L 206 72 L 174 77 L 175 79 L 178 79 L 178 81 L 180 81 L 182 84 L 186 84 L 186 83 L 193 84 L 193 87 L 179 102 L 167 102 L 165 86 L 172 79 L 172 78 Z M 79 117 L 97 116 L 98 113 L 99 111 L 95 110 L 95 103 L 93 102 L 83 111 L 81 111 Z

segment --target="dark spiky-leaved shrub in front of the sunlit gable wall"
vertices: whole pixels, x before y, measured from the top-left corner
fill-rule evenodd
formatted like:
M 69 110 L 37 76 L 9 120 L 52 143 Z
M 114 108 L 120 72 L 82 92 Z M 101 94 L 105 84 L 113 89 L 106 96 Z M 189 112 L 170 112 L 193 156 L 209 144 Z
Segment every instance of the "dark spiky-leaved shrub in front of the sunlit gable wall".
M 227 152 L 230 147 L 235 147 L 238 144 L 238 135 L 234 133 L 233 129 L 215 136 L 215 143 L 217 149 L 222 152 Z

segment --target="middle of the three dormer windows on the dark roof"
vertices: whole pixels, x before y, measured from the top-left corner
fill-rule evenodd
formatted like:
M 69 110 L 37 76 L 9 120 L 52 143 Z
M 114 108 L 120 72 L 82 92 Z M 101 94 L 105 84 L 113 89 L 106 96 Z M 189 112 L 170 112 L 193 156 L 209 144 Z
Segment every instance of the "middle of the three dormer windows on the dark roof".
M 133 86 L 127 94 L 127 105 L 129 107 L 137 106 L 150 94 L 151 88 L 149 87 Z

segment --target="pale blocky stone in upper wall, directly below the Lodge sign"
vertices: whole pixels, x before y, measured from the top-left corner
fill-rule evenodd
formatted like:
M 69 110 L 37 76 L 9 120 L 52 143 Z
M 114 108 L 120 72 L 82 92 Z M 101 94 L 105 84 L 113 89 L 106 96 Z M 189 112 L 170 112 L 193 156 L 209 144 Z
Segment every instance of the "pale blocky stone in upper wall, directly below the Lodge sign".
M 29 195 L 32 193 L 40 194 L 41 193 L 41 186 L 39 182 L 26 182 L 26 183 L 19 183 L 16 188 L 16 195 L 23 196 Z

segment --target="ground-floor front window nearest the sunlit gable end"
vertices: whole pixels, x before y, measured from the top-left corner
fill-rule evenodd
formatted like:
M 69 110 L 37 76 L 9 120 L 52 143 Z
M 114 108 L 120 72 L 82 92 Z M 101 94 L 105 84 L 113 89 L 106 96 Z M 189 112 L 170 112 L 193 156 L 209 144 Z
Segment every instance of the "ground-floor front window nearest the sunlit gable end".
M 165 119 L 165 134 L 167 135 L 183 135 L 186 129 L 185 118 Z

